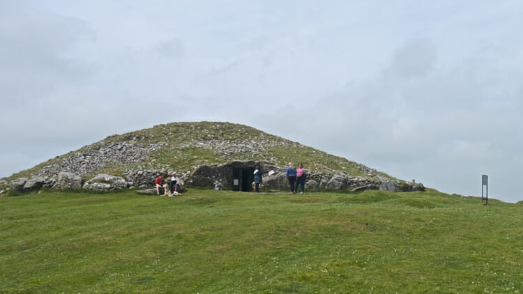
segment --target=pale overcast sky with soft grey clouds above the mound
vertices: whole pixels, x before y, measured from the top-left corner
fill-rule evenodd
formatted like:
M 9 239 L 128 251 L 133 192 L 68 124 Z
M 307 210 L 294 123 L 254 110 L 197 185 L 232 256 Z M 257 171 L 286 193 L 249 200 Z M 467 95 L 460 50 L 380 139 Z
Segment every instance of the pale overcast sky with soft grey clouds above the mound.
M 523 2 L 0 0 L 0 177 L 110 134 L 244 123 L 523 200 Z

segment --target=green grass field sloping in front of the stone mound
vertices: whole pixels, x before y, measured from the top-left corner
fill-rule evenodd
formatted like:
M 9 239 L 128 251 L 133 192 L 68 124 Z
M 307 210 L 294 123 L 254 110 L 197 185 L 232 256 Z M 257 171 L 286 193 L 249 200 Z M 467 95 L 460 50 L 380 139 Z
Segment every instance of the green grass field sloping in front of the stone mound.
M 435 191 L 0 197 L 0 293 L 523 293 L 522 206 Z

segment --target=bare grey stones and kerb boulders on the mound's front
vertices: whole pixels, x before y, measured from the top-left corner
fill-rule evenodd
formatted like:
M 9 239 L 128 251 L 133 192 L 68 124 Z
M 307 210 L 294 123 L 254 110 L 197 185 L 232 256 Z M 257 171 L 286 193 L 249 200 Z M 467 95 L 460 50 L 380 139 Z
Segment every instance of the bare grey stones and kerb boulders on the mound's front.
M 152 187 L 158 176 L 171 176 L 175 171 L 168 167 L 162 169 L 128 169 L 123 177 L 110 176 L 107 174 L 98 174 L 87 180 L 85 183 L 79 182 L 79 178 L 86 178 L 102 171 L 111 165 L 131 165 L 144 162 L 149 153 L 167 145 L 166 142 L 158 144 L 144 144 L 144 137 L 126 138 L 129 142 L 107 142 L 102 144 L 93 144 L 79 150 L 70 152 L 53 160 L 44 163 L 38 174 L 33 178 L 18 178 L 8 185 L 9 189 L 17 192 L 27 192 L 43 187 L 56 189 L 76 189 L 78 185 L 84 189 L 107 190 L 123 189 L 132 187 Z M 184 148 L 199 147 L 213 150 L 225 157 L 226 160 L 233 161 L 237 153 L 246 153 L 255 158 L 266 158 L 268 161 L 264 165 L 264 183 L 261 187 L 266 189 L 287 189 L 288 183 L 285 180 L 285 168 L 275 167 L 275 159 L 269 157 L 265 150 L 271 150 L 275 146 L 298 146 L 299 144 L 286 140 L 274 139 L 273 137 L 262 138 L 261 140 L 245 139 L 239 142 L 227 141 L 220 138 L 208 138 L 204 140 L 193 140 L 189 144 L 180 146 Z M 423 184 L 405 183 L 386 176 L 375 169 L 366 167 L 356 162 L 350 163 L 359 171 L 372 178 L 361 176 L 351 176 L 343 171 L 335 171 L 323 165 L 312 167 L 316 170 L 326 172 L 309 171 L 305 183 L 306 189 L 310 190 L 340 190 L 351 189 L 353 191 L 363 189 L 383 189 L 388 191 L 423 191 Z M 186 184 L 190 183 L 207 183 L 211 185 L 216 180 L 223 177 L 220 173 L 220 167 L 208 167 L 209 175 L 204 175 L 206 179 L 193 178 L 191 173 L 206 166 L 192 167 L 192 171 L 176 171 L 179 178 Z M 274 173 L 268 176 L 268 171 Z M 215 174 L 213 174 L 215 173 Z M 196 177 L 196 175 L 195 175 Z M 65 182 L 64 182 L 65 181 Z M 79 183 L 79 184 L 78 184 Z M 216 185 L 214 185 L 216 186 Z M 221 187 L 221 186 L 220 186 Z

